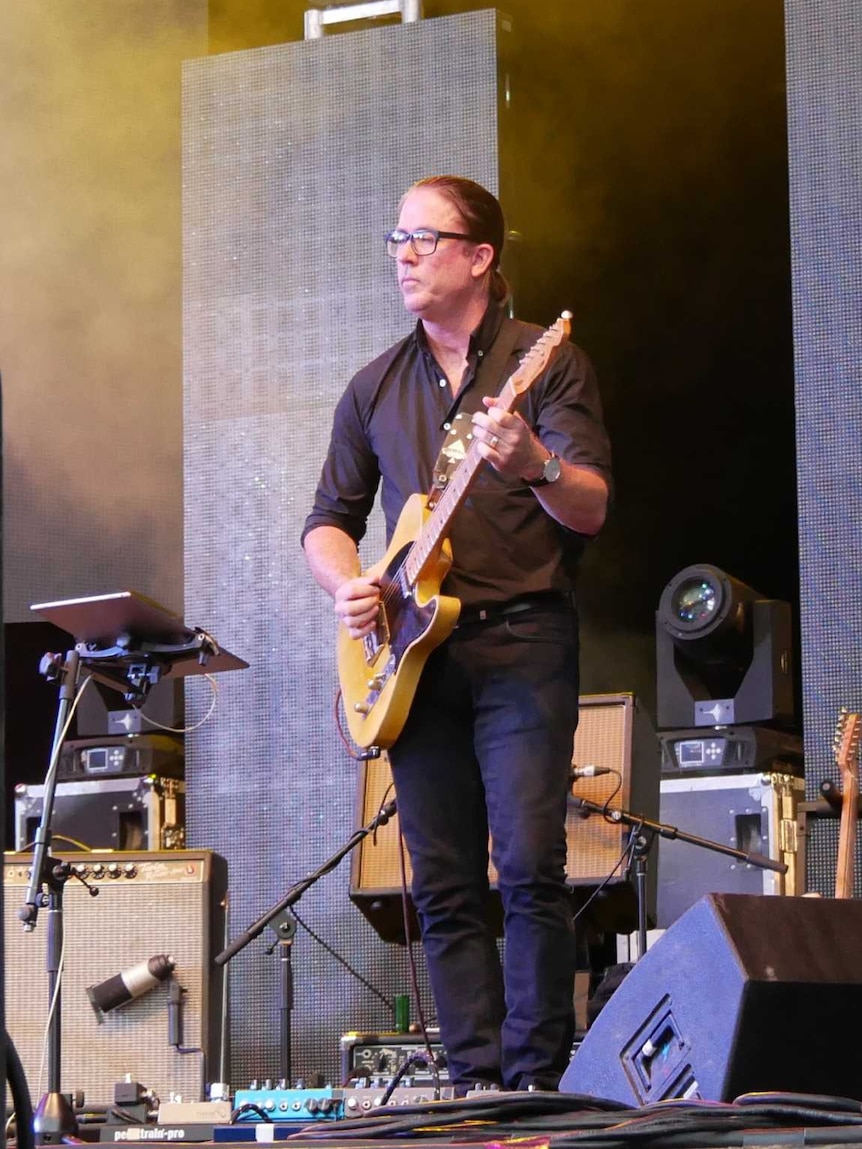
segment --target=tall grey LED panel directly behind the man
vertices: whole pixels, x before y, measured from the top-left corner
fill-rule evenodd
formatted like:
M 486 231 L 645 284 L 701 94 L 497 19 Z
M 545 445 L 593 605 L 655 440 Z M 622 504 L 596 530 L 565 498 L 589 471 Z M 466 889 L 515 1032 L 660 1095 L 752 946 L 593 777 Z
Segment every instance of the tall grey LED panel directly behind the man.
M 185 69 L 185 617 L 251 663 L 187 735 L 188 838 L 228 859 L 232 935 L 353 831 L 334 616 L 299 537 L 338 396 L 410 326 L 383 245 L 401 193 L 440 171 L 500 191 L 509 34 L 474 11 Z M 188 695 L 192 724 L 210 694 Z M 268 930 L 231 962 L 234 1085 L 333 1080 L 344 1032 L 391 1027 L 406 951 L 348 887 L 344 865 L 295 907 L 325 944 L 300 928 L 285 951 Z

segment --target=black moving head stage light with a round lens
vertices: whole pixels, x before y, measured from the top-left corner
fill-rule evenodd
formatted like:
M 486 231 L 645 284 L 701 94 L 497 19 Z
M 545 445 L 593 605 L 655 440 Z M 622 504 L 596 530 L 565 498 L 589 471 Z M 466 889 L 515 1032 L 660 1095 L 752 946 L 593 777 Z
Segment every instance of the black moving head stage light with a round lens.
M 791 646 L 788 603 L 686 566 L 656 611 L 656 725 L 792 724 Z

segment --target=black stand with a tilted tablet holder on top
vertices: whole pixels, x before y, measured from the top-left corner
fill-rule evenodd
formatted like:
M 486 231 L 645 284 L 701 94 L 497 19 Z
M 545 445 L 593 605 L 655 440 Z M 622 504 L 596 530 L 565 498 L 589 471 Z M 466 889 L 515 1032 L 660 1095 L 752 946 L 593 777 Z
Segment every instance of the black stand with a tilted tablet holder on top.
M 71 867 L 51 855 L 51 820 L 60 748 L 78 689 L 80 668 L 85 666 L 98 681 L 122 692 L 132 705 L 140 705 L 149 688 L 162 678 L 243 670 L 248 663 L 223 650 L 206 631 L 186 626 L 177 615 L 134 591 L 40 602 L 30 609 L 76 640 L 64 656 L 46 654 L 40 665 L 43 674 L 59 681 L 60 701 L 41 819 L 33 843 L 30 885 L 26 901 L 18 910 L 24 930 L 31 932 L 36 928 L 40 907 L 48 907 L 48 1088 L 36 1108 L 33 1132 L 37 1144 L 57 1144 L 66 1138 L 75 1136 L 78 1124 L 69 1100 L 60 1092 L 63 887 Z M 83 878 L 79 880 L 84 881 Z M 91 894 L 99 893 L 97 887 L 87 888 Z

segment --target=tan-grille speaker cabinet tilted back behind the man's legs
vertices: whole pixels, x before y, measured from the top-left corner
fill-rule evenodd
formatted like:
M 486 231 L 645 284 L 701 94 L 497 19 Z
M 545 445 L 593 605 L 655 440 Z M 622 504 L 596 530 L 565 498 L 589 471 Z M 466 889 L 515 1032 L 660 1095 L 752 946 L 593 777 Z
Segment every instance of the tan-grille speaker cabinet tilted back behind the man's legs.
M 647 818 L 659 816 L 660 748 L 652 724 L 633 694 L 586 694 L 579 702 L 572 762 L 579 766 L 606 766 L 611 773 L 583 778 L 574 785 L 577 797 L 634 810 Z M 615 793 L 616 792 L 616 793 Z M 367 825 L 393 796 L 388 758 L 382 755 L 363 763 L 359 777 L 357 826 Z M 588 912 L 601 930 L 628 932 L 637 925 L 634 888 L 619 865 L 629 830 L 599 816 L 582 817 L 575 804 L 567 818 L 567 871 L 576 907 L 607 881 Z M 655 902 L 655 866 L 649 873 L 648 900 Z M 492 886 L 497 879 L 488 867 Z M 407 859 L 407 881 L 410 865 Z M 351 899 L 385 941 L 403 941 L 401 863 L 398 817 L 354 850 Z M 498 900 L 499 902 L 499 900 Z M 499 905 L 492 907 L 499 920 Z

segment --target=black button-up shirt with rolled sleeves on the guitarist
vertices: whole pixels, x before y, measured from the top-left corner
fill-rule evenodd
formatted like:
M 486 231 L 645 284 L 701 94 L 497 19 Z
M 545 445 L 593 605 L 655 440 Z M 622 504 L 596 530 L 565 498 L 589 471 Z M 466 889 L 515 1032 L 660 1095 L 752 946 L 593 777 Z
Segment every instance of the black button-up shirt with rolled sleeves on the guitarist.
M 484 409 L 476 373 L 503 326 L 502 304 L 492 302 L 470 338 L 468 368 L 453 398 L 434 361 L 422 323 L 351 380 L 336 408 L 329 453 L 302 538 L 316 526 L 336 526 L 359 542 L 378 486 L 386 538 L 411 494 L 431 487 L 434 462 L 448 425 L 469 402 Z M 515 321 L 509 321 L 515 322 Z M 497 394 L 518 360 L 541 334 L 517 323 L 515 348 L 498 379 L 482 380 Z M 610 450 L 601 421 L 593 367 L 580 348 L 564 342 L 521 398 L 517 410 L 542 444 L 569 463 L 601 473 L 610 486 Z M 484 465 L 449 532 L 454 564 L 446 594 L 465 607 L 505 602 L 545 591 L 574 591 L 584 538 L 561 526 L 522 480 Z M 382 557 L 382 556 L 375 556 Z

